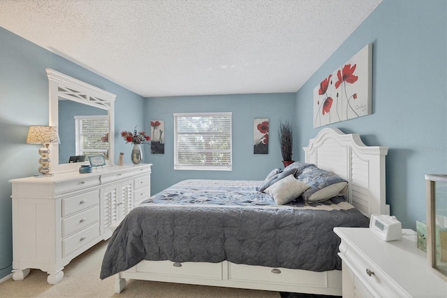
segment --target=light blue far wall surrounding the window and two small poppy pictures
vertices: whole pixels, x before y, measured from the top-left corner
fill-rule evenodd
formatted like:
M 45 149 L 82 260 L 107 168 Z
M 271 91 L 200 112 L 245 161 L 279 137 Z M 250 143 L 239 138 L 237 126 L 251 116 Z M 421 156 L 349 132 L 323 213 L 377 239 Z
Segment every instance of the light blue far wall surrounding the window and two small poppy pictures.
M 145 129 L 150 132 L 151 120 L 165 121 L 165 154 L 151 154 L 145 146 L 145 162 L 152 166 L 151 193 L 188 178 L 226 180 L 262 180 L 274 168 L 282 168 L 277 139 L 279 119 L 294 119 L 295 94 L 238 94 L 198 97 L 161 97 L 147 99 Z M 175 171 L 173 113 L 232 112 L 233 171 Z M 253 154 L 255 118 L 269 118 L 269 154 Z M 299 150 L 298 143 L 295 151 Z M 296 156 L 297 153 L 295 153 Z

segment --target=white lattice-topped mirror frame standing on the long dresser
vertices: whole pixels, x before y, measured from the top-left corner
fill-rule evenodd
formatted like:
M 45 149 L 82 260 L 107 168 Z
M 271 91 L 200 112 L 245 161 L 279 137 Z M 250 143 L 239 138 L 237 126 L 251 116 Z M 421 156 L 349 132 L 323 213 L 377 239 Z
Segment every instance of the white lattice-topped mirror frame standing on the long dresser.
M 50 87 L 49 125 L 57 127 L 59 130 L 59 97 L 107 110 L 109 115 L 109 159 L 106 162 L 107 165 L 115 164 L 115 98 L 117 96 L 53 69 L 45 69 L 45 71 L 47 71 Z M 53 173 L 78 171 L 80 167 L 80 163 L 59 164 L 59 144 L 50 144 L 50 160 Z

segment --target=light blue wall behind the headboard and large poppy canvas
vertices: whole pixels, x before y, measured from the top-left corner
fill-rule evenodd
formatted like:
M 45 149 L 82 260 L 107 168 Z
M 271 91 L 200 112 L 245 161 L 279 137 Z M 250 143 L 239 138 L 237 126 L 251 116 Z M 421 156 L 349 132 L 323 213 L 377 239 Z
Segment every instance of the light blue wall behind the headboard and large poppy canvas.
M 390 147 L 386 198 L 407 228 L 425 220 L 425 173 L 447 173 L 446 20 L 445 0 L 383 1 L 296 96 L 304 143 L 320 130 L 312 126 L 314 87 L 373 44 L 372 115 L 329 127 Z

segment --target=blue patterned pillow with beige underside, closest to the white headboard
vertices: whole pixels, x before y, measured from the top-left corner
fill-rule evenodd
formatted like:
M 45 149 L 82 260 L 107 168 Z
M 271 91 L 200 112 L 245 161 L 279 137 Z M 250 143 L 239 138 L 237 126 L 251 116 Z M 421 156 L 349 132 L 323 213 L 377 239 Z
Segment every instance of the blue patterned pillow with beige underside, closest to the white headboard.
M 316 166 L 308 166 L 298 176 L 298 180 L 310 185 L 302 197 L 305 201 L 325 201 L 332 197 L 342 196 L 348 190 L 348 181 L 335 173 L 330 173 Z

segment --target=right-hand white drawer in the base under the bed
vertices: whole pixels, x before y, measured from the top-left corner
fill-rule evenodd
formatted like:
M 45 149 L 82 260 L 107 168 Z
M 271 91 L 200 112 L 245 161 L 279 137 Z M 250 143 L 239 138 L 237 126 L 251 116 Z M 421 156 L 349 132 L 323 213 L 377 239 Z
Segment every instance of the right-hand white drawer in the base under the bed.
M 288 285 L 300 284 L 316 288 L 328 287 L 328 274 L 326 272 L 249 266 L 231 262 L 228 262 L 228 280 Z

